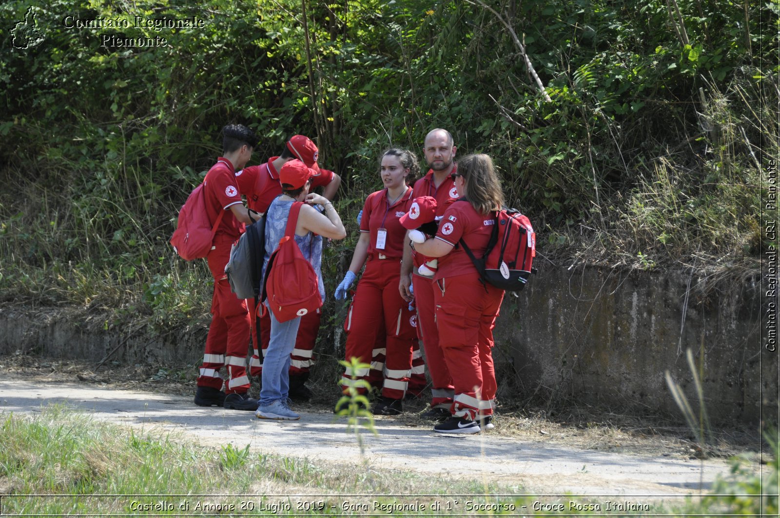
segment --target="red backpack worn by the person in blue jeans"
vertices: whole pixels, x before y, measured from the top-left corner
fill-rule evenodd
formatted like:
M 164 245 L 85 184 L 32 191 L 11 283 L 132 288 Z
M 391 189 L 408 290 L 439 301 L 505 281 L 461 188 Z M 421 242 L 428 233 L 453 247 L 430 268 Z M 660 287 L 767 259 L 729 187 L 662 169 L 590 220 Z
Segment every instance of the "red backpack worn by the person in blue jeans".
M 265 267 L 262 300 L 268 299 L 276 320 L 286 322 L 303 317 L 322 306 L 317 272 L 300 252 L 295 241 L 295 227 L 303 203 L 290 208 L 285 236 L 268 259 Z

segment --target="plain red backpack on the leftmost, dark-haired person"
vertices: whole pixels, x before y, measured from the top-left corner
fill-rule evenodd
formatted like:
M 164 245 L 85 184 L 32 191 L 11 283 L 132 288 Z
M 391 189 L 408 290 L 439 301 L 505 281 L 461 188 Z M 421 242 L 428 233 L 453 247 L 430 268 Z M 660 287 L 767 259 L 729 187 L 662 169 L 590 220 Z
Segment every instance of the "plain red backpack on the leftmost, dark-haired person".
M 225 211 L 219 211 L 214 225 L 208 219 L 206 212 L 206 191 L 204 183 L 193 189 L 190 196 L 179 211 L 179 224 L 171 236 L 173 250 L 185 261 L 206 257 L 211 250 L 211 243 L 217 232 L 219 222 Z

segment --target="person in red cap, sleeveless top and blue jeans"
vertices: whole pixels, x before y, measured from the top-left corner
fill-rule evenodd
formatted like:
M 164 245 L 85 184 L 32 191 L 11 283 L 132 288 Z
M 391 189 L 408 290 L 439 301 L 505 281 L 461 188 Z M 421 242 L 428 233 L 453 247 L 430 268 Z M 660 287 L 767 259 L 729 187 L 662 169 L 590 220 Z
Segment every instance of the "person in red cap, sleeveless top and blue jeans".
M 282 195 L 271 202 L 266 214 L 263 275 L 271 253 L 275 250 L 279 239 L 285 235 L 290 208 L 296 201 L 305 201 L 307 204 L 303 205 L 298 215 L 295 242 L 303 257 L 310 261 L 314 271 L 317 272 L 320 296 L 324 300 L 321 275 L 322 238 L 344 239 L 346 230 L 330 200 L 310 192 L 312 178 L 316 174 L 314 169 L 310 169 L 297 159 L 282 165 L 279 171 Z M 320 206 L 322 211 L 318 211 L 312 205 Z M 287 406 L 287 397 L 289 396 L 290 353 L 296 345 L 296 336 L 302 318 L 279 322 L 270 310 L 268 314 L 271 321 L 270 339 L 264 355 L 260 405 L 257 406 L 256 415 L 261 419 L 296 420 L 300 416 Z

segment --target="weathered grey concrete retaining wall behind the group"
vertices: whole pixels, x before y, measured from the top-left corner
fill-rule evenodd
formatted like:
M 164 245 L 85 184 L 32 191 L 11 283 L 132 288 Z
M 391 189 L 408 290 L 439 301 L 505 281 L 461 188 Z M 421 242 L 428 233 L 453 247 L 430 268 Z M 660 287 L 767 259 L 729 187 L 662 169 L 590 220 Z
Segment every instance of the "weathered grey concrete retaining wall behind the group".
M 707 286 L 701 271 L 556 268 L 508 295 L 495 338 L 501 399 L 566 403 L 680 416 L 665 371 L 697 408 L 686 349 L 703 372 L 714 423 L 777 422 L 778 357 L 761 347 L 760 286 Z M 0 310 L 0 354 L 198 364 L 207 321 L 167 335 L 133 335 L 74 310 Z M 702 342 L 704 340 L 704 342 Z M 762 402 L 763 397 L 763 402 Z M 762 404 L 763 403 L 763 404 Z

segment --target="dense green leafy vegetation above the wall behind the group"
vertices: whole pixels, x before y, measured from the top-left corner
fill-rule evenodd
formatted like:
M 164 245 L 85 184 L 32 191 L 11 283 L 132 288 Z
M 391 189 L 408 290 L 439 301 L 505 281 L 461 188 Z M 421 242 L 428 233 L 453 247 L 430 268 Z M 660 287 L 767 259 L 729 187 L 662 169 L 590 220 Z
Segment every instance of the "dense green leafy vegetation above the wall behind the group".
M 43 43 L 12 48 L 27 9 L 0 5 L 5 301 L 107 308 L 151 331 L 204 319 L 205 265 L 167 239 L 228 122 L 261 135 L 254 163 L 316 137 L 350 224 L 381 150 L 420 150 L 438 126 L 495 158 L 548 257 L 756 271 L 778 0 L 54 0 L 33 10 Z M 325 251 L 328 282 L 353 244 Z

